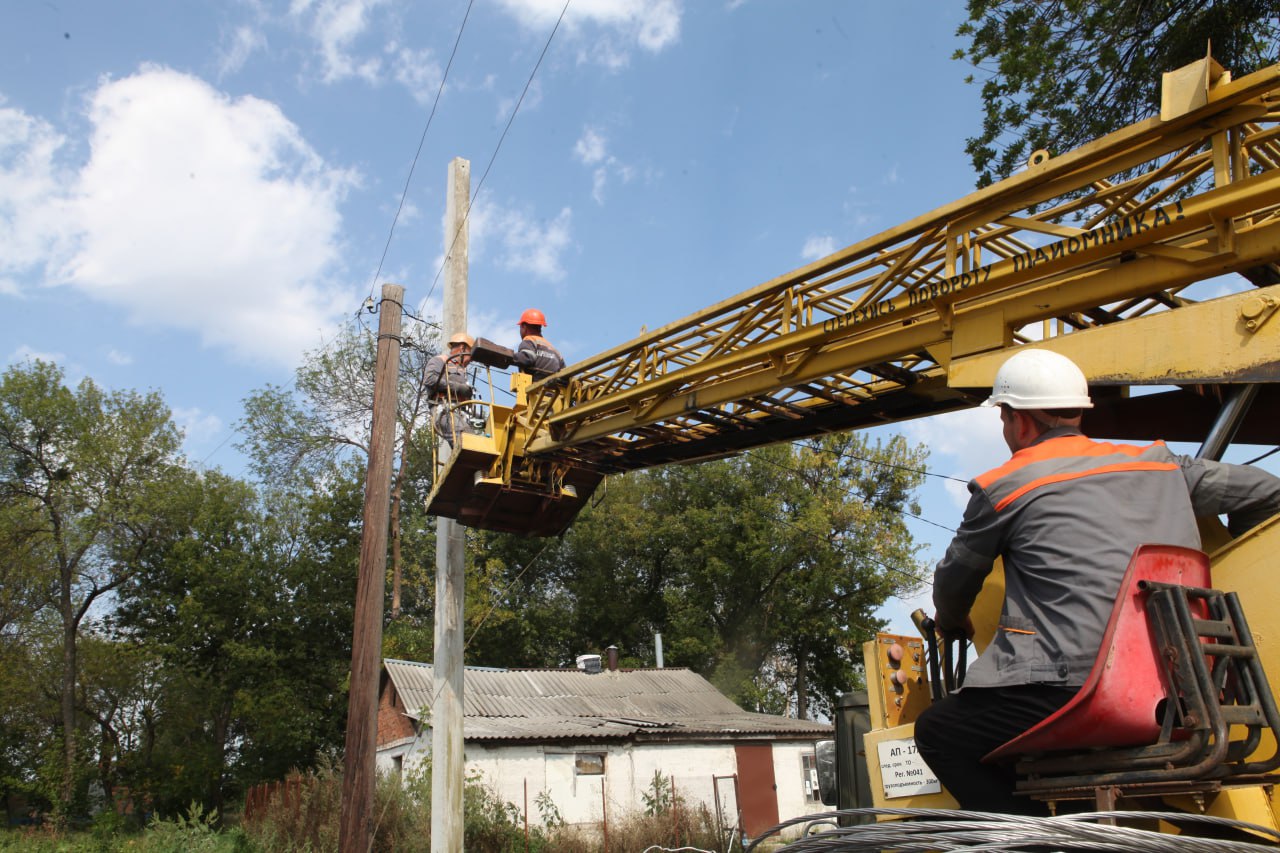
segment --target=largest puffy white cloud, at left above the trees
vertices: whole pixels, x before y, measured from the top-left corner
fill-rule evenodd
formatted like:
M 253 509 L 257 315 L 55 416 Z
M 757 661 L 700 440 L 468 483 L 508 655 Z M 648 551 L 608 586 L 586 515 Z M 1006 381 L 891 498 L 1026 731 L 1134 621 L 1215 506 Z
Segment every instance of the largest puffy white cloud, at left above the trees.
M 92 93 L 88 161 L 63 174 L 55 133 L 6 119 L 0 229 L 15 248 L 0 272 L 44 269 L 46 286 L 137 323 L 282 365 L 349 310 L 329 277 L 356 175 L 324 163 L 275 105 L 145 67 Z

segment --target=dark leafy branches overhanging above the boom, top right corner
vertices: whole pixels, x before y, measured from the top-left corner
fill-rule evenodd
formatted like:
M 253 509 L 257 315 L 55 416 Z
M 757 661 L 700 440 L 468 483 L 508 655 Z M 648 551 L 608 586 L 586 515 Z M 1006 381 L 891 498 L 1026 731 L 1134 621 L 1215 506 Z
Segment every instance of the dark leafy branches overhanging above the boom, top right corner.
M 1275 0 L 969 0 L 957 35 L 982 82 L 965 143 L 978 186 L 1039 149 L 1064 154 L 1160 109 L 1164 72 L 1212 53 L 1242 76 L 1280 58 Z M 973 82 L 973 77 L 969 78 Z

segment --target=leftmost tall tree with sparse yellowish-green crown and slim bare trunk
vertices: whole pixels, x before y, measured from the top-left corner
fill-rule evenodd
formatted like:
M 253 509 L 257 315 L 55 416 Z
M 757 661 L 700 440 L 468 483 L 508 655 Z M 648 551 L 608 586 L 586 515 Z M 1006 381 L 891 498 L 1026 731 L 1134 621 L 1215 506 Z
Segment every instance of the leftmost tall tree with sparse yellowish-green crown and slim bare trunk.
M 106 392 L 90 379 L 72 391 L 58 366 L 41 361 L 0 378 L 0 506 L 24 516 L 26 553 L 36 558 L 42 603 L 58 613 L 61 633 L 63 809 L 78 779 L 81 628 L 166 534 L 164 493 L 178 446 L 155 393 Z

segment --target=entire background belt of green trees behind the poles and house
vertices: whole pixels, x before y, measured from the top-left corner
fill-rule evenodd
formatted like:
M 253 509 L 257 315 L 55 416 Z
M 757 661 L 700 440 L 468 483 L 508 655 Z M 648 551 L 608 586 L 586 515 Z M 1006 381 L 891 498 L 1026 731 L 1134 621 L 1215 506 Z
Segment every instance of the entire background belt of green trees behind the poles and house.
M 340 744 L 364 460 L 251 484 L 187 467 L 178 438 L 155 394 L 73 391 L 38 362 L 0 378 L 0 793 L 221 813 Z M 402 465 L 426 470 L 417 447 Z M 824 711 L 858 680 L 869 613 L 919 576 L 902 512 L 922 462 L 835 435 L 617 478 L 558 539 L 468 530 L 466 661 L 617 644 L 652 665 L 660 631 L 671 665 L 748 707 Z M 430 660 L 429 476 L 406 483 L 410 583 L 384 653 Z

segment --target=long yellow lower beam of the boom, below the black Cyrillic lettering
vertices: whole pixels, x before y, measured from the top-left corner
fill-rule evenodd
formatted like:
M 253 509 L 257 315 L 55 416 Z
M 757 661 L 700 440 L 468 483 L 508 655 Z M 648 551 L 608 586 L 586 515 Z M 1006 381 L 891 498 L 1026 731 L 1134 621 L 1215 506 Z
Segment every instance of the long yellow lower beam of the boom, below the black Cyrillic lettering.
M 980 315 L 998 313 L 1001 329 L 1057 316 L 1087 306 L 1140 296 L 1153 288 L 1183 286 L 1280 257 L 1280 219 L 1236 233 L 1234 251 L 1203 251 L 1174 260 L 1149 251 L 1160 240 L 1187 240 L 1212 232 L 1215 219 L 1280 205 L 1280 172 L 1210 191 L 1187 202 L 1126 216 L 1085 236 L 1071 236 L 1032 252 L 963 273 L 928 289 L 886 298 L 874 306 L 828 318 L 820 325 L 780 336 L 708 359 L 596 400 L 571 405 L 549 418 L 549 433 L 530 444 L 544 452 L 628 428 L 654 424 L 695 409 L 768 393 L 796 383 L 918 352 L 951 337 L 964 355 L 1002 346 L 965 329 Z M 1197 245 L 1197 243 L 1192 243 Z M 1119 263 L 1128 255 L 1133 260 Z M 1108 266 L 1097 266 L 1111 261 Z M 1085 272 L 1070 279 L 1075 269 Z M 1019 287 L 1024 289 L 1018 289 Z M 966 320 L 970 323 L 966 327 Z M 955 384 L 955 383 L 952 383 Z M 572 424 L 572 429 L 568 425 Z M 566 429 L 558 441 L 557 428 Z

